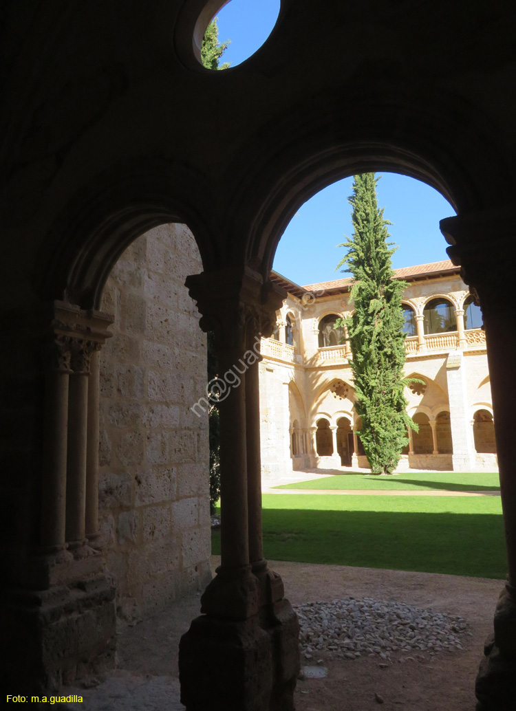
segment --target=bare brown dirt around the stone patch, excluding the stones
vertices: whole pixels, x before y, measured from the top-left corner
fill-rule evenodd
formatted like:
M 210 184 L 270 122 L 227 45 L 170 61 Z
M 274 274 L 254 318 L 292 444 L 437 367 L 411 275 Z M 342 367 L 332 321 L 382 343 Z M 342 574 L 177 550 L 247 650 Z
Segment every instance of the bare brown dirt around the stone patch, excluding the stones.
M 220 558 L 212 557 L 213 567 L 219 562 Z M 321 654 L 317 659 L 327 667 L 327 677 L 298 682 L 298 711 L 369 711 L 378 707 L 375 693 L 384 699 L 385 711 L 473 711 L 475 675 L 483 642 L 493 629 L 502 581 L 281 561 L 271 562 L 270 567 L 282 576 L 286 597 L 293 604 L 348 595 L 398 600 L 459 614 L 472 633 L 462 651 L 405 663 L 398 661 L 401 654 L 392 653 L 393 662 L 386 668 L 379 667 L 378 658 L 333 661 Z M 199 596 L 194 596 L 125 629 L 118 638 L 119 668 L 130 675 L 177 678 L 179 638 L 198 611 Z

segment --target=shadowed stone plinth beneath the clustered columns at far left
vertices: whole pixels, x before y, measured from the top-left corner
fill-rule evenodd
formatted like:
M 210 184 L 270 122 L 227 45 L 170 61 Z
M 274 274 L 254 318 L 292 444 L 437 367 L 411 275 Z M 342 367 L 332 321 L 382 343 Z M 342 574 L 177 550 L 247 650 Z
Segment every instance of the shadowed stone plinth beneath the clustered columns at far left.
M 115 667 L 115 587 L 105 574 L 38 592 L 8 589 L 2 598 L 1 688 L 55 692 Z

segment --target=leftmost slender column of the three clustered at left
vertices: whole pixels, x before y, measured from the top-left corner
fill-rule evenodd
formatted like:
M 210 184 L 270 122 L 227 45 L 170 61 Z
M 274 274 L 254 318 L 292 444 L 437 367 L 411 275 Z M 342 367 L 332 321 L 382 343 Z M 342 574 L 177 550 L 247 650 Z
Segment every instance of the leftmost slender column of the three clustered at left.
M 68 435 L 68 379 L 70 339 L 56 336 L 51 368 L 46 373 L 43 431 L 43 486 L 41 487 L 40 550 L 69 560 L 65 552 L 66 452 Z

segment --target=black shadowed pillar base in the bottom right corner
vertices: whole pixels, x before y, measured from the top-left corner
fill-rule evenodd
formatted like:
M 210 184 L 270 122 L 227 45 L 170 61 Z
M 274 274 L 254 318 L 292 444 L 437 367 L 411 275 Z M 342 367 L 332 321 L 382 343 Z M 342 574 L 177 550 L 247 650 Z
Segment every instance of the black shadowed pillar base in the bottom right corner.
M 495 611 L 495 634 L 485 643 L 475 682 L 476 711 L 516 707 L 516 589 L 507 585 Z

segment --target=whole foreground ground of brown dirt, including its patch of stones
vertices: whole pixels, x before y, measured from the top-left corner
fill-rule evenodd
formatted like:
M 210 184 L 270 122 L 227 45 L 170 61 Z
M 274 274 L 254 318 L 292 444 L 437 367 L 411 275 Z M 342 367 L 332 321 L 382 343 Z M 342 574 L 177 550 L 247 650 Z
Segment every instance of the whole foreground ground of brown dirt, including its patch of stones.
M 219 562 L 212 557 L 213 569 Z M 369 711 L 378 704 L 384 711 L 473 711 L 475 675 L 503 581 L 293 562 L 270 567 L 300 614 L 302 665 L 321 672 L 313 678 L 307 670 L 298 681 L 296 711 Z M 94 688 L 67 688 L 67 695 L 85 697 L 68 708 L 184 708 L 177 649 L 197 614 L 194 594 L 127 627 L 118 636 L 118 670 L 90 680 Z

